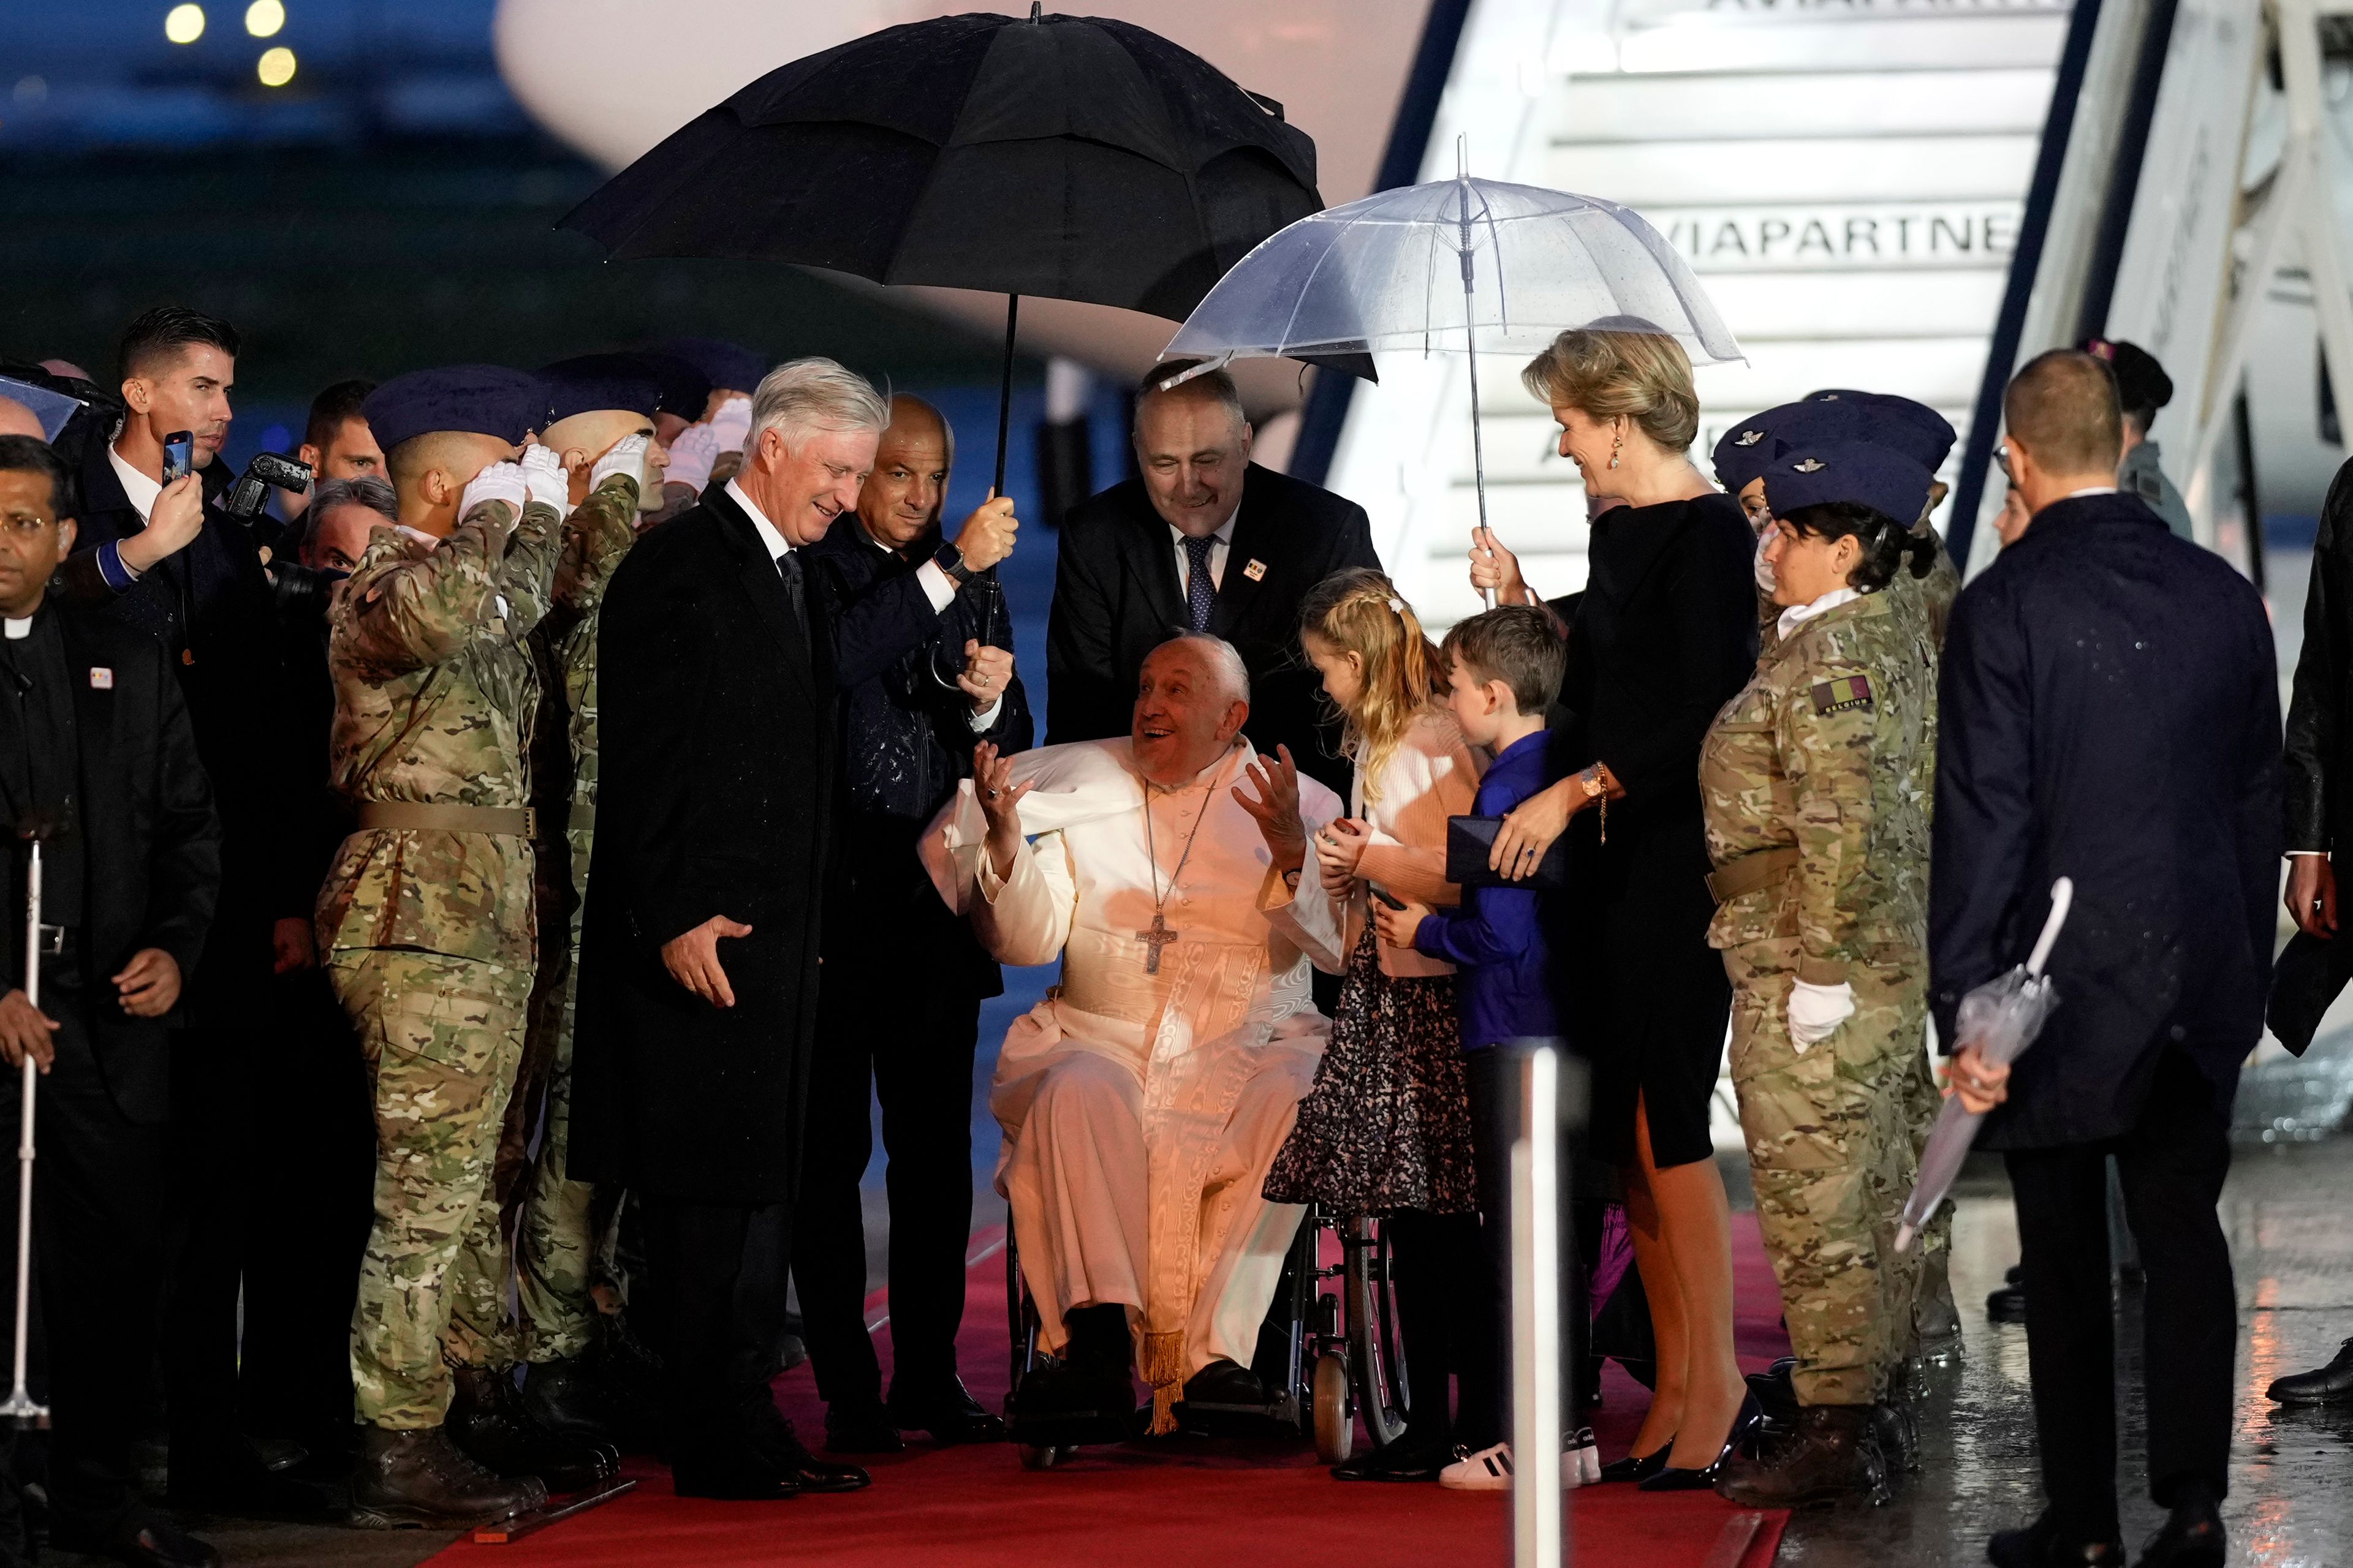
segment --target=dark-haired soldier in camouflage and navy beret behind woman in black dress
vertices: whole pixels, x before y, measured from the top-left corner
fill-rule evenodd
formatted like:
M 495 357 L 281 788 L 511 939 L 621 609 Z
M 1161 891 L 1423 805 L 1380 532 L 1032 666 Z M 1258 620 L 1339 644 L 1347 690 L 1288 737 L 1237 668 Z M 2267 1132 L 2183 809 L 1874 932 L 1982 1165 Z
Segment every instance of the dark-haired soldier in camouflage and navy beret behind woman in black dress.
M 1901 1415 L 1873 1415 L 1915 1286 L 1889 1192 L 1913 1161 L 1906 1072 L 1927 1023 L 1937 665 L 1887 590 L 1927 470 L 1800 442 L 1765 484 L 1781 637 L 1715 717 L 1699 783 L 1720 905 L 1708 943 L 1734 985 L 1732 1081 L 1800 1406 L 1795 1432 L 1734 1458 L 1720 1490 L 1795 1507 L 1880 1486 L 1880 1434 L 1901 1434 Z

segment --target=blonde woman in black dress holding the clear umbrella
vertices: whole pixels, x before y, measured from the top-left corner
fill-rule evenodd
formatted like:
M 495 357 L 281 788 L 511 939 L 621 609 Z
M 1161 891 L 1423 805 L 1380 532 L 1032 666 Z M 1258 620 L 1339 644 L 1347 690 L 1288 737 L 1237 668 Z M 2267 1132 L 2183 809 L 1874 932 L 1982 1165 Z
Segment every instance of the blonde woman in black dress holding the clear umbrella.
M 1617 327 L 1617 324 L 1612 324 Z M 1675 339 L 1565 331 L 1522 371 L 1593 496 L 1588 581 L 1553 729 L 1562 776 L 1506 818 L 1497 870 L 1527 875 L 1569 832 L 1558 900 L 1560 1016 L 1593 1067 L 1593 1152 L 1619 1166 L 1659 1338 L 1659 1387 L 1633 1453 L 1602 1479 L 1713 1486 L 1753 1418 L 1732 1354 L 1732 1222 L 1708 1138 L 1732 987 L 1708 947 L 1699 743 L 1758 654 L 1755 538 L 1685 451 L 1699 433 Z M 1534 602 L 1482 536 L 1473 583 Z

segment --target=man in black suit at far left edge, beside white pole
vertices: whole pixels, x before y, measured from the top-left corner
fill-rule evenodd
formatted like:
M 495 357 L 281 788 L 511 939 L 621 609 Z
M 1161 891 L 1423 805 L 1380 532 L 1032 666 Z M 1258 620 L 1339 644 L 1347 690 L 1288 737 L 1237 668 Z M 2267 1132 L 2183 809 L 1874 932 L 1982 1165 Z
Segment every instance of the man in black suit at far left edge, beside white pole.
M 45 595 L 73 543 L 66 465 L 0 437 L 0 1121 L 35 1100 L 33 1258 L 47 1326 L 49 1540 L 120 1563 L 205 1566 L 214 1549 L 139 1500 L 162 1286 L 169 1018 L 221 889 L 221 825 L 162 646 Z M 42 846 L 40 1006 L 26 994 L 26 865 Z M 16 1251 L 14 1190 L 0 1255 Z M 7 1448 L 0 1448 L 5 1455 Z M 0 1465 L 0 1561 L 31 1561 Z M 16 1535 L 14 1542 L 7 1535 Z M 24 1556 L 16 1556 L 24 1554 Z

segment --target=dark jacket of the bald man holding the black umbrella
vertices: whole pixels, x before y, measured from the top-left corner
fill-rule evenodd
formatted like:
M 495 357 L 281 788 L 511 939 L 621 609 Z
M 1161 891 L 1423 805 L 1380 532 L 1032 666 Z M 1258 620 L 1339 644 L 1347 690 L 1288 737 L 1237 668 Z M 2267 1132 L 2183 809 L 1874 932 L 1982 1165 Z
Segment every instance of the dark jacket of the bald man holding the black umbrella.
M 880 550 L 854 517 L 842 517 L 809 545 L 828 574 L 828 602 L 852 607 L 915 574 L 936 550 L 920 541 L 908 557 Z M 826 907 L 826 983 L 904 985 L 911 976 L 995 997 L 1005 978 L 995 959 L 939 900 L 915 858 L 915 839 L 972 773 L 972 748 L 1031 748 L 1028 691 L 1014 675 L 986 731 L 972 729 L 972 703 L 953 684 L 965 642 L 981 635 L 974 583 L 932 623 L 932 635 L 880 675 L 842 684 L 842 795 L 835 806 L 833 872 Z M 1012 646 L 1012 623 L 993 616 L 998 646 Z

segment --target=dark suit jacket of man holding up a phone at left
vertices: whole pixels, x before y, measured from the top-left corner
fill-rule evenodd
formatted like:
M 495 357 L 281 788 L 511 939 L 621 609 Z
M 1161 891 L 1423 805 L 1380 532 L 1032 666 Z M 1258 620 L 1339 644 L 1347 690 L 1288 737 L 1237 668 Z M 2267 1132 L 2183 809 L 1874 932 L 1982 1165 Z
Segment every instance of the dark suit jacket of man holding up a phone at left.
M 219 477 L 214 477 L 219 475 Z M 226 489 L 226 463 L 200 470 L 207 496 Z M 59 574 L 66 597 L 148 632 L 169 656 L 188 708 L 198 757 L 221 816 L 224 886 L 205 983 L 191 994 L 195 1023 L 235 1027 L 271 978 L 271 924 L 311 917 L 318 867 L 282 853 L 287 783 L 313 778 L 325 757 L 304 757 L 278 644 L 278 611 L 252 529 L 209 510 L 186 550 L 162 559 L 127 592 L 99 576 L 96 550 L 146 524 L 92 442 L 80 473 L 80 531 Z

